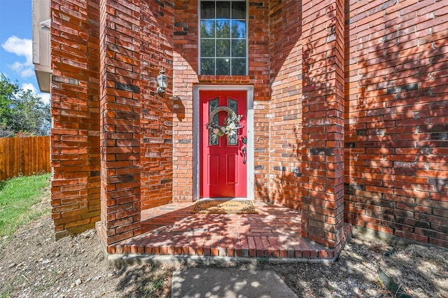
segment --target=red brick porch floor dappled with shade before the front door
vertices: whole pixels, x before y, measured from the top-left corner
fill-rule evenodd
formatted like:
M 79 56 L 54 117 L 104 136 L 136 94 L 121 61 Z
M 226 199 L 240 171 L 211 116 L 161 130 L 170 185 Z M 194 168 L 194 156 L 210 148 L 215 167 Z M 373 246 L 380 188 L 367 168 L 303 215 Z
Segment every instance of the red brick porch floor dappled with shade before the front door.
M 116 243 L 109 253 L 136 255 L 332 259 L 335 251 L 300 235 L 301 213 L 256 204 L 258 213 L 191 213 L 192 203 L 141 212 L 143 234 Z M 351 229 L 344 225 L 344 239 Z

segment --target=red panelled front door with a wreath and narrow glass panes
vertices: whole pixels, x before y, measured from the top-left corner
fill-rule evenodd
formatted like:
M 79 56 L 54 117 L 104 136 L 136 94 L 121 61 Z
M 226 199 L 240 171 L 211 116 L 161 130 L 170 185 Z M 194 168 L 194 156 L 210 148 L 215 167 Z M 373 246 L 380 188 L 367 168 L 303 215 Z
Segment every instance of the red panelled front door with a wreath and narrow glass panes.
M 239 128 L 218 136 L 232 111 Z M 200 91 L 200 197 L 247 197 L 246 119 L 246 91 Z

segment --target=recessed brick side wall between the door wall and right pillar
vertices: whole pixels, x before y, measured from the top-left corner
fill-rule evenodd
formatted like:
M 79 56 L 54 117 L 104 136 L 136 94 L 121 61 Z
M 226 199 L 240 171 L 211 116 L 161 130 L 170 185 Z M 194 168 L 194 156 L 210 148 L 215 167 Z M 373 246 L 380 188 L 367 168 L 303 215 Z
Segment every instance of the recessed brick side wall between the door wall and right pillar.
M 302 155 L 302 6 L 270 2 L 269 198 L 299 209 Z

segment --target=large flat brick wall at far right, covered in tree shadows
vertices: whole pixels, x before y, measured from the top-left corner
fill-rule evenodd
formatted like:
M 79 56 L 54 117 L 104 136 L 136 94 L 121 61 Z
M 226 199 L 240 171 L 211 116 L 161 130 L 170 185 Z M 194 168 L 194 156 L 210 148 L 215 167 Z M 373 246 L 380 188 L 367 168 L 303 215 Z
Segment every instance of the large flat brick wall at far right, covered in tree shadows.
M 448 247 L 448 10 L 347 1 L 345 218 Z

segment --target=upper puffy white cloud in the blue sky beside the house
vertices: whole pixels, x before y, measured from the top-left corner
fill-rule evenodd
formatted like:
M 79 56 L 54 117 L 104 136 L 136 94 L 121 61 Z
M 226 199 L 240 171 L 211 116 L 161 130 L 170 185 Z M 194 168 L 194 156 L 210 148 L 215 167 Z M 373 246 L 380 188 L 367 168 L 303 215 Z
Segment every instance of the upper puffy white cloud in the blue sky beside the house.
M 17 36 L 10 36 L 1 47 L 6 52 L 13 53 L 19 57 L 25 57 L 25 62 L 14 62 L 9 67 L 14 71 L 20 73 L 22 78 L 29 78 L 34 75 L 33 66 L 33 42 L 31 39 L 18 38 Z

